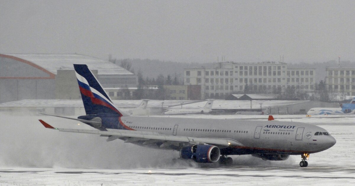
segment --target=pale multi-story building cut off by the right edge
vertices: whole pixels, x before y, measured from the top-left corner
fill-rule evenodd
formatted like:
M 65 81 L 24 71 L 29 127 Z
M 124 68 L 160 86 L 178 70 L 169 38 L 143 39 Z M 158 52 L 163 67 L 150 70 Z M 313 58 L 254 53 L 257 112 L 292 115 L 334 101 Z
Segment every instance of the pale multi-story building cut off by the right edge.
M 355 68 L 326 68 L 328 91 L 355 96 Z

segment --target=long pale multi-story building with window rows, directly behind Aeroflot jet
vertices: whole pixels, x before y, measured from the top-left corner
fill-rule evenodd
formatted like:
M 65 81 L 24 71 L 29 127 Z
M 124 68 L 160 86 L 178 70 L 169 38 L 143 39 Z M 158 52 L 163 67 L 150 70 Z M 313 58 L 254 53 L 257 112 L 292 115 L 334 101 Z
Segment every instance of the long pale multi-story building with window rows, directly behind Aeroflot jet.
M 220 62 L 215 67 L 184 69 L 185 85 L 201 85 L 202 98 L 225 96 L 250 90 L 260 93 L 283 92 L 286 88 L 314 90 L 315 69 L 287 68 L 286 63 Z

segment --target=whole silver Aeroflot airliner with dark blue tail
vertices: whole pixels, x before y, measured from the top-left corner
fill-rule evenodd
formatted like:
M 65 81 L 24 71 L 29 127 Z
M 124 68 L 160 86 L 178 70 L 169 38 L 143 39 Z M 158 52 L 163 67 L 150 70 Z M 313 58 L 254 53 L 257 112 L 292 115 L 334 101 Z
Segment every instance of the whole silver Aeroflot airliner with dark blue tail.
M 46 128 L 176 150 L 182 159 L 227 165 L 233 163 L 230 155 L 252 154 L 264 160 L 286 160 L 290 155 L 301 155 L 300 166 L 307 167 L 309 154 L 327 150 L 336 143 L 325 129 L 299 122 L 125 115 L 112 103 L 86 65 L 75 64 L 74 68 L 87 115 L 57 117 L 81 121 L 95 130 L 55 128 L 39 120 Z

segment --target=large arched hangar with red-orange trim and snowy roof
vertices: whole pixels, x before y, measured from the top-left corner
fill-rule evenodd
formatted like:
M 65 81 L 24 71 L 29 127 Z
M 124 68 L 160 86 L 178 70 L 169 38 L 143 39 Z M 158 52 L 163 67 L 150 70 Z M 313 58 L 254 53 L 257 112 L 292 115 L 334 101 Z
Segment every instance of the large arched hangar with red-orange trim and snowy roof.
M 87 64 L 107 91 L 137 88 L 126 69 L 80 54 L 0 54 L 0 103 L 28 100 L 81 99 L 73 64 Z

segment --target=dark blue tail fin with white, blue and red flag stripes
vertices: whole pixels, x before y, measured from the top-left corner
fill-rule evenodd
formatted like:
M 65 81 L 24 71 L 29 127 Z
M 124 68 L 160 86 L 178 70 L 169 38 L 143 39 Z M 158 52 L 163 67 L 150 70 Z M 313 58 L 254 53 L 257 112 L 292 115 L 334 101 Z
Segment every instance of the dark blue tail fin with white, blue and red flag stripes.
M 122 116 L 86 64 L 74 64 L 86 115 L 99 113 Z

